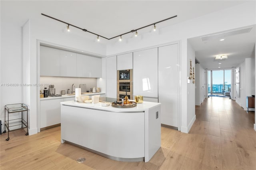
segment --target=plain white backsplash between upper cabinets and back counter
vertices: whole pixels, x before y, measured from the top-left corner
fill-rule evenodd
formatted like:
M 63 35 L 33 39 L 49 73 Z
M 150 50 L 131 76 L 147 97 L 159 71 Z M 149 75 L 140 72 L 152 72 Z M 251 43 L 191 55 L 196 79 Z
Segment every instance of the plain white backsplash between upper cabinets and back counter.
M 97 87 L 97 78 L 80 78 L 80 77 L 48 77 L 48 76 L 40 76 L 40 84 L 52 84 L 55 88 L 55 94 L 60 94 L 62 90 L 68 92 L 70 89 L 70 93 L 72 91 L 72 84 L 76 85 L 76 88 L 79 88 L 80 84 L 86 84 L 87 91 L 92 87 Z M 41 86 L 40 89 L 44 91 L 44 87 Z M 49 86 L 47 86 L 47 89 Z

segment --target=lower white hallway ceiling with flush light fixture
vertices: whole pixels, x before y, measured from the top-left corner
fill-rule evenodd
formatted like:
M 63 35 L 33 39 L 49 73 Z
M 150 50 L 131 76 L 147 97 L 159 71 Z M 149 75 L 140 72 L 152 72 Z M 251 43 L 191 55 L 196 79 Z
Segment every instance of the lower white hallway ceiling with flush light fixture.
M 193 49 L 196 51 L 196 59 L 204 69 L 236 67 L 238 64 L 242 63 L 245 58 L 255 57 L 255 27 L 256 26 L 253 25 L 234 30 L 226 30 L 224 32 L 212 33 L 210 35 L 202 35 L 190 38 L 188 39 L 188 42 L 190 42 Z M 240 30 L 246 30 L 246 28 L 252 29 L 250 32 L 240 33 Z M 202 37 L 212 38 L 203 41 Z M 228 59 L 216 60 L 215 57 L 217 55 L 228 55 Z

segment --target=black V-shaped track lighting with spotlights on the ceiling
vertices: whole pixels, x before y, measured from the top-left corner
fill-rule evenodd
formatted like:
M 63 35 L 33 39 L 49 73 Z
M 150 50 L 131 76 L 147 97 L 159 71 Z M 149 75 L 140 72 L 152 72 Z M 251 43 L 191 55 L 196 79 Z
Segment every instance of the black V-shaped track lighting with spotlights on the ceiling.
M 51 18 L 51 19 L 53 19 L 53 20 L 56 20 L 56 21 L 58 21 L 58 22 L 62 22 L 62 23 L 64 23 L 64 24 L 67 24 L 67 25 L 68 25 L 68 26 L 67 26 L 68 32 L 70 32 L 69 26 L 73 26 L 73 27 L 78 28 L 78 29 L 80 29 L 80 30 L 82 30 L 82 31 L 84 31 L 84 32 L 88 32 L 88 33 L 90 33 L 90 34 L 94 34 L 94 35 L 97 36 L 97 41 L 100 41 L 99 37 L 105 38 L 105 39 L 107 39 L 107 40 L 111 40 L 111 39 L 113 39 L 113 38 L 118 38 L 118 37 L 119 37 L 119 36 L 114 36 L 114 37 L 112 37 L 112 38 L 106 38 L 106 37 L 104 37 L 104 36 L 99 36 L 99 35 L 96 34 L 96 33 L 90 32 L 90 31 L 88 31 L 88 30 L 86 30 L 86 29 L 84 29 L 84 28 L 80 28 L 80 27 L 78 27 L 78 26 L 74 26 L 74 25 L 72 25 L 72 24 L 69 24 L 69 23 L 64 22 L 64 21 L 62 21 L 62 20 L 59 20 L 59 19 L 57 19 L 57 18 L 53 18 L 52 16 L 48 16 L 48 15 L 42 14 L 42 13 L 41 13 L 41 15 L 46 16 L 46 17 L 48 17 L 48 18 Z M 175 17 L 177 17 L 177 15 L 176 15 L 176 16 L 172 16 L 172 17 L 170 17 L 170 18 L 166 18 L 166 19 L 161 20 L 161 21 L 158 21 L 158 22 L 154 22 L 153 24 L 149 24 L 149 25 L 146 25 L 146 26 L 137 28 L 137 29 L 135 29 L 136 31 L 135 31 L 135 30 L 131 30 L 130 32 L 126 32 L 126 33 L 124 33 L 124 34 L 122 34 L 122 35 L 129 34 L 129 33 L 131 33 L 131 32 L 135 32 L 135 37 L 137 37 L 137 36 L 138 36 L 137 30 L 140 30 L 140 29 L 143 29 L 143 28 L 152 26 L 152 25 L 154 25 L 154 31 L 156 31 L 156 24 L 158 24 L 158 23 L 160 23 L 160 22 L 164 22 L 164 21 L 166 21 L 166 20 L 170 20 L 170 19 L 175 18 Z M 119 41 L 122 41 L 122 35 L 120 36 Z

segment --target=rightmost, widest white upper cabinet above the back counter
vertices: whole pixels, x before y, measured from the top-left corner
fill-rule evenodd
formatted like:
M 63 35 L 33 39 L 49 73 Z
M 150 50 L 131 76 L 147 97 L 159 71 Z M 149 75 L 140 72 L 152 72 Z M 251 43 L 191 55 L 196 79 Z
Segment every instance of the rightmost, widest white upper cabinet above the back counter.
M 102 59 L 83 54 L 76 55 L 77 77 L 102 77 Z

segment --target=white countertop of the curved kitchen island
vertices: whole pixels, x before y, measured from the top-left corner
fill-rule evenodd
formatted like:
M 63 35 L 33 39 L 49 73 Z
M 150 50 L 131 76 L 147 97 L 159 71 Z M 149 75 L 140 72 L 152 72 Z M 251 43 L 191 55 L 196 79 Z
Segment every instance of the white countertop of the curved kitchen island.
M 133 101 L 133 100 L 129 100 Z M 60 103 L 61 105 L 67 105 L 72 107 L 84 107 L 87 109 L 97 109 L 97 110 L 104 110 L 104 111 L 113 111 L 113 112 L 139 112 L 139 111 L 146 111 L 150 108 L 156 107 L 161 105 L 161 103 L 154 103 L 154 102 L 146 102 L 137 103 L 136 107 L 132 108 L 117 108 L 110 106 L 102 106 L 102 102 L 100 103 L 82 103 L 82 102 L 75 102 L 75 101 L 64 101 Z

